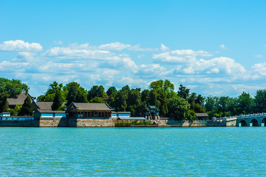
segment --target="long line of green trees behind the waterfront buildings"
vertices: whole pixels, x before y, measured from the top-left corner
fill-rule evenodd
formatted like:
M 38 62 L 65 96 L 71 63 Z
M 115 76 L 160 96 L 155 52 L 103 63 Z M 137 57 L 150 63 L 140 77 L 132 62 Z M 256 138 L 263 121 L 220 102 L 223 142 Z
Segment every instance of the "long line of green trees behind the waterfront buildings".
M 13 115 L 16 113 L 24 114 L 25 111 L 21 111 L 25 109 L 22 109 L 24 106 L 9 109 L 6 99 L 16 98 L 18 94 L 28 92 L 29 89 L 20 80 L 0 78 L 0 112 L 8 111 Z M 52 110 L 62 110 L 71 102 L 107 102 L 117 111 L 131 112 L 132 116 L 144 116 L 148 105 L 157 105 L 161 117 L 194 120 L 196 118 L 195 113 L 207 113 L 209 118 L 212 118 L 265 112 L 266 90 L 257 90 L 254 97 L 246 92 L 242 92 L 236 97 L 203 97 L 195 92 L 190 93 L 190 89 L 183 85 L 179 85 L 177 92 L 175 92 L 175 86 L 169 80 L 153 81 L 144 90 L 140 88 L 130 89 L 128 85 L 119 90 L 116 87 L 110 87 L 106 90 L 103 86 L 92 86 L 87 90 L 77 82 L 70 82 L 63 86 L 63 84 L 54 81 L 44 94 L 37 97 L 36 101 L 53 102 Z

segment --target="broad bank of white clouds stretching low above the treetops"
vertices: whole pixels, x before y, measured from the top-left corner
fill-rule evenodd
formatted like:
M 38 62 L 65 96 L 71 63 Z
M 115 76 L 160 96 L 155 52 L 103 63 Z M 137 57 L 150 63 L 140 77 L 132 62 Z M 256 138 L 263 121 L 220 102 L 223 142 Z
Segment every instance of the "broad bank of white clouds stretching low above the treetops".
M 148 60 L 149 52 L 143 52 L 152 50 L 159 53 L 152 55 L 152 61 L 156 63 Z M 103 85 L 105 89 L 111 86 L 119 89 L 125 85 L 147 89 L 152 81 L 169 79 L 177 88 L 182 83 L 191 91 L 194 89 L 203 95 L 238 94 L 243 90 L 240 89 L 242 85 L 251 85 L 248 83 L 252 83 L 253 87 L 254 83 L 260 82 L 260 87 L 266 87 L 266 84 L 261 85 L 266 79 L 266 62 L 255 64 L 247 71 L 234 59 L 205 59 L 215 54 L 202 50 L 159 52 L 162 50 L 168 50 L 168 47 L 161 44 L 160 49 L 141 48 L 140 45 L 110 43 L 102 45 L 100 49 L 89 43 L 73 43 L 67 47 L 50 48 L 42 54 L 20 51 L 15 59 L 0 61 L 0 71 L 2 77 L 15 77 L 29 82 L 30 90 L 35 89 L 37 93 L 34 96 L 43 94 L 55 80 L 63 84 L 78 81 L 85 89 L 93 85 Z M 171 64 L 163 66 L 163 63 Z M 255 87 L 244 90 L 254 90 Z

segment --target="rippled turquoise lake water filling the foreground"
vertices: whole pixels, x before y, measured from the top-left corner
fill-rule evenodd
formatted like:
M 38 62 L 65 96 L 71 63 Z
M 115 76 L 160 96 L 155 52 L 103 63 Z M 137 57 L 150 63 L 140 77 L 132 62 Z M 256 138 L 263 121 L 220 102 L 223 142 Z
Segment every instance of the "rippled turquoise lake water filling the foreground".
M 266 176 L 266 127 L 0 127 L 0 176 Z

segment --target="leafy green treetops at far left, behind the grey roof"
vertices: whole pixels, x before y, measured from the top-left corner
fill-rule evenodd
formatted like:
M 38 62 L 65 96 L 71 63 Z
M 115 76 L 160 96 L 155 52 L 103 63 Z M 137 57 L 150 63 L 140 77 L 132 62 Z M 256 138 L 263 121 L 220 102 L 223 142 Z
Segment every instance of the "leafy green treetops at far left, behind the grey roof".
M 20 80 L 0 78 L 0 93 L 8 94 L 9 98 L 17 98 L 21 92 L 28 92 L 29 89 Z

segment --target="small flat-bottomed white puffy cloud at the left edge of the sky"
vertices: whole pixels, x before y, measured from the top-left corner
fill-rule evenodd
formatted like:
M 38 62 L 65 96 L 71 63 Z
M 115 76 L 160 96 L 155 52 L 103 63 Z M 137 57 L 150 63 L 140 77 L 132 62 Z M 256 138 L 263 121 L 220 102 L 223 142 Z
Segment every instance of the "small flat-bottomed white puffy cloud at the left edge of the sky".
M 2 51 L 33 51 L 38 52 L 42 50 L 42 46 L 39 43 L 29 43 L 23 40 L 10 40 L 4 41 L 0 44 L 0 50 Z

